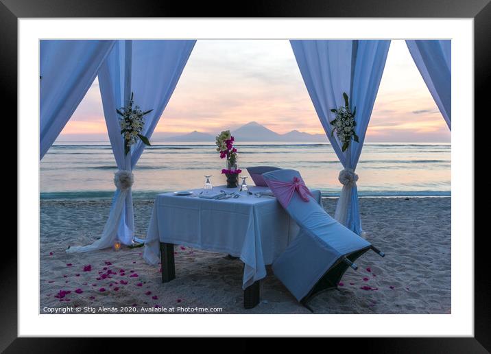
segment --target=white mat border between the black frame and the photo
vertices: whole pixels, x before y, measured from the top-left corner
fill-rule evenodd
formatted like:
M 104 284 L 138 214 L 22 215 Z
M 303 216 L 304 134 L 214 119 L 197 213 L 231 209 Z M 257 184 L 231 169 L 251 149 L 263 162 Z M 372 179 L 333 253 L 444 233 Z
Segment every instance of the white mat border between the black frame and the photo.
M 451 38 L 451 315 L 40 315 L 38 40 L 40 38 Z M 192 54 L 191 54 L 192 55 Z M 472 19 L 20 19 L 19 336 L 472 336 Z

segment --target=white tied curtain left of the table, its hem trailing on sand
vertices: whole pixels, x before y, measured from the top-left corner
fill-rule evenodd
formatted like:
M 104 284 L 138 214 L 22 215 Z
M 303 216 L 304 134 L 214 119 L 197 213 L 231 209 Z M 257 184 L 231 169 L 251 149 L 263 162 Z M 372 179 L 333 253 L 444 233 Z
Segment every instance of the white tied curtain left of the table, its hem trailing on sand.
M 125 101 L 133 92 L 134 105 L 140 106 L 143 111 L 153 109 L 152 113 L 145 115 L 141 133 L 150 139 L 194 45 L 195 40 L 119 40 L 101 66 L 99 88 L 104 117 L 120 171 L 132 171 L 145 145 L 136 143 L 125 155 L 116 108 L 125 106 Z M 116 239 L 123 244 L 131 244 L 133 237 L 131 187 L 124 190 L 118 188 L 101 238 L 89 246 L 69 248 L 68 252 L 107 248 Z

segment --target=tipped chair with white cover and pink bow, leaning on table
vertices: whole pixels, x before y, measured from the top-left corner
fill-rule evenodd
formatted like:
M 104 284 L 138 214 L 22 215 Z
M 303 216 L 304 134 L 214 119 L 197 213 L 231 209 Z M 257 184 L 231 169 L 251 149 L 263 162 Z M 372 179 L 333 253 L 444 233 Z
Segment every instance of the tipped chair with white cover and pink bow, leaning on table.
M 293 169 L 263 174 L 278 202 L 293 218 L 300 232 L 273 263 L 276 277 L 295 298 L 307 305 L 314 296 L 337 287 L 348 267 L 372 249 L 384 257 L 370 242 L 339 224 L 312 198 L 302 177 Z

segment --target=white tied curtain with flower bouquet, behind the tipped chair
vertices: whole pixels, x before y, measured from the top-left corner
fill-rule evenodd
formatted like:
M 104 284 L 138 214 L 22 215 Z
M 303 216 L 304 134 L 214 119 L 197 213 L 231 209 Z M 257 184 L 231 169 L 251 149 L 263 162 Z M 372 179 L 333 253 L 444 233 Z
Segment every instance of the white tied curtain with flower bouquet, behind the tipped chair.
M 322 127 L 344 167 L 339 176 L 343 188 L 336 206 L 337 221 L 361 235 L 357 176 L 355 169 L 363 147 L 366 129 L 382 78 L 390 40 L 291 40 L 295 58 Z M 336 134 L 331 137 L 331 108 L 344 106 L 343 93 L 356 107 L 355 132 L 359 143 L 351 141 L 344 152 Z

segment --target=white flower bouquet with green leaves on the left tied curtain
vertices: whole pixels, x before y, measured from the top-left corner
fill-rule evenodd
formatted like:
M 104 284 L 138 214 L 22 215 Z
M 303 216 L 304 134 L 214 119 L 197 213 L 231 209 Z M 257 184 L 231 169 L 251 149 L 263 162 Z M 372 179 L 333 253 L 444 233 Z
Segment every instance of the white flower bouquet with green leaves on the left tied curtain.
M 143 116 L 152 112 L 153 109 L 143 112 L 139 106 L 133 107 L 133 93 L 131 93 L 130 103 L 126 107 L 116 109 L 116 113 L 120 115 L 119 126 L 121 127 L 121 135 L 124 138 L 125 154 L 130 152 L 131 145 L 136 143 L 138 139 L 143 141 L 145 145 L 150 145 L 147 137 L 140 134 L 145 126 Z

